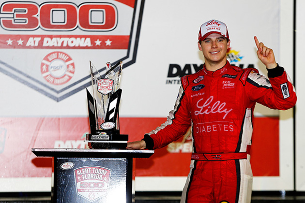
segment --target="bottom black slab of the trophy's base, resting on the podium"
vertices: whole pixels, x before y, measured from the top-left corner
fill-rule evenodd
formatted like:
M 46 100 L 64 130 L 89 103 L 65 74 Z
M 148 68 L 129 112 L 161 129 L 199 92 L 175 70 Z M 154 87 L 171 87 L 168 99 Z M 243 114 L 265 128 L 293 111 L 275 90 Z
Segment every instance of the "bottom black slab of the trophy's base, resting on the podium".
M 89 149 L 126 149 L 127 141 L 85 141 Z

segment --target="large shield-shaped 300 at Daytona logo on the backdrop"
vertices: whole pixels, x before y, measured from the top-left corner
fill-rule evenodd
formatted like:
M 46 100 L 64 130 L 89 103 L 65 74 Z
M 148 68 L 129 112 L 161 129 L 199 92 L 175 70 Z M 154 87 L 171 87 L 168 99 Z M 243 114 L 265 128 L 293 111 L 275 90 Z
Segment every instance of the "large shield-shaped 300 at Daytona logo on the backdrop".
M 89 61 L 135 63 L 144 0 L 0 4 L 0 72 L 57 102 L 91 85 Z

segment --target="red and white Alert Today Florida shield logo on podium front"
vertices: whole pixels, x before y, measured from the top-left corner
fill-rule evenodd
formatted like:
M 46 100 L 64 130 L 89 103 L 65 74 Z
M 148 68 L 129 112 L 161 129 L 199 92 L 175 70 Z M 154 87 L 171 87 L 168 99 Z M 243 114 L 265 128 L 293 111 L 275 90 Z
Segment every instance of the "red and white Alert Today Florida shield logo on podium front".
M 95 201 L 108 192 L 111 170 L 101 166 L 74 169 L 77 195 Z

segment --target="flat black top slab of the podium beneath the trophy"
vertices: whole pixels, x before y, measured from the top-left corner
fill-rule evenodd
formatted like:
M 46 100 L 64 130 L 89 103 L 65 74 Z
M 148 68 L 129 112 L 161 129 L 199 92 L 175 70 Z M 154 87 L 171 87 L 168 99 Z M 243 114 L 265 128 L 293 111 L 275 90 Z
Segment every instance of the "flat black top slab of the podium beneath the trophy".
M 149 158 L 154 150 L 33 148 L 32 152 L 36 156 L 66 158 Z

